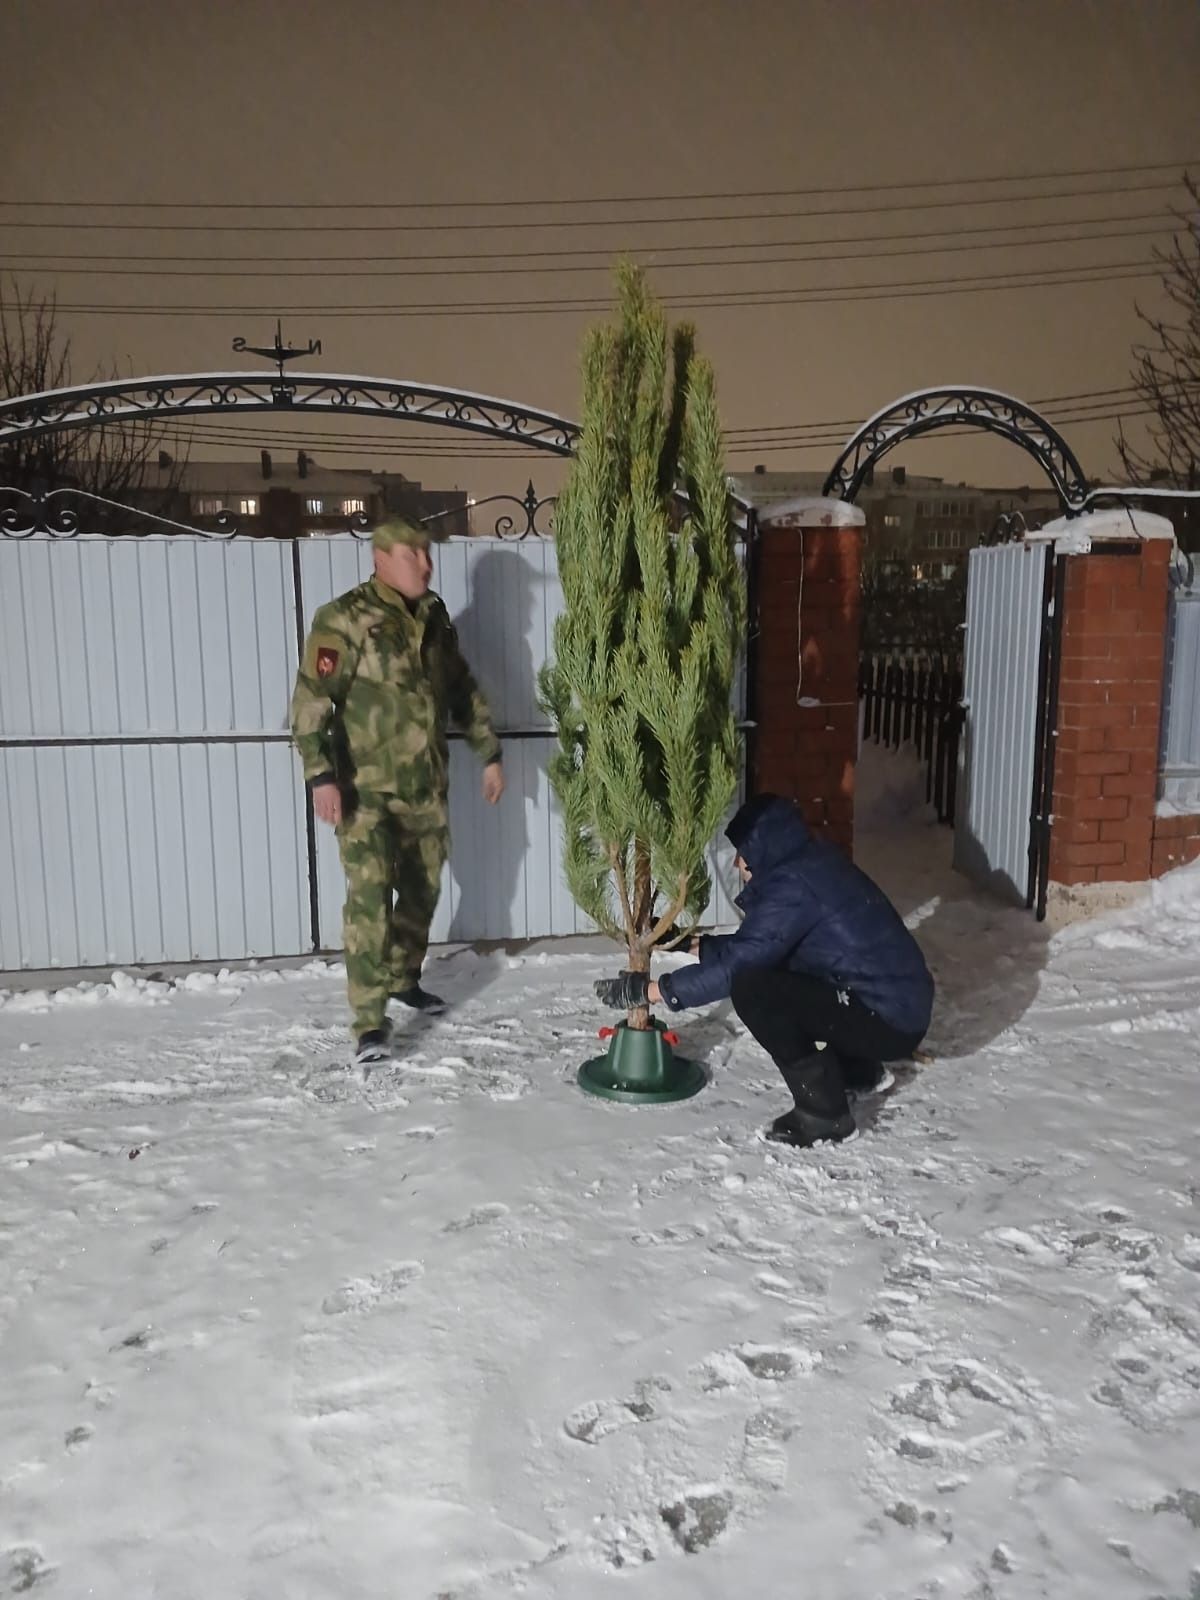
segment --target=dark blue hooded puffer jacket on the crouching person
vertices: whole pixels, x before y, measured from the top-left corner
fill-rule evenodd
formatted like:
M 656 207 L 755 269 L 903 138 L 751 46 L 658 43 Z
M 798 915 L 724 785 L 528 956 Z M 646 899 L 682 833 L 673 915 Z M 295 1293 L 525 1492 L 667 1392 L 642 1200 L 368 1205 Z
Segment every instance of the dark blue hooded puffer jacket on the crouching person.
M 672 1010 L 730 994 L 739 966 L 826 978 L 901 1032 L 923 1034 L 933 978 L 886 894 L 835 845 L 814 838 L 790 800 L 758 795 L 725 830 L 750 869 L 738 896 L 746 918 L 701 939 L 699 965 L 659 979 Z

